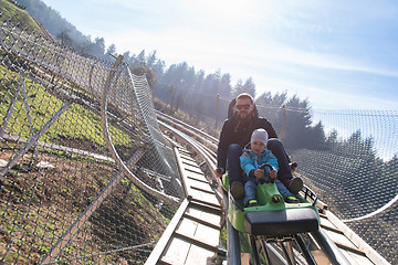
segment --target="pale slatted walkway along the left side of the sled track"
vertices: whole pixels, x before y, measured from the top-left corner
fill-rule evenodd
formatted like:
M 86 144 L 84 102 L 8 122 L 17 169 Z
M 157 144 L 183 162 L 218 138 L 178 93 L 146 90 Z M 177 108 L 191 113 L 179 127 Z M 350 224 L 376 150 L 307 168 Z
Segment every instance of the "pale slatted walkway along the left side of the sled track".
M 187 197 L 146 264 L 222 264 L 227 251 L 219 244 L 224 212 L 220 194 L 210 186 L 193 153 L 170 141 Z

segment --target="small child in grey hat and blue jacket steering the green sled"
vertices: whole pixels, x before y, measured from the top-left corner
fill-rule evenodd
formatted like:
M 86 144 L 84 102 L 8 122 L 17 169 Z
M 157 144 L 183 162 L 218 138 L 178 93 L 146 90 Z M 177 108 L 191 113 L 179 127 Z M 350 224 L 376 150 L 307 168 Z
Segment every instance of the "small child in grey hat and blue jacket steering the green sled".
M 266 149 L 266 142 L 269 140 L 269 135 L 264 129 L 256 129 L 253 131 L 250 140 L 250 146 L 248 145 L 243 149 L 243 153 L 240 157 L 241 168 L 247 178 L 244 183 L 244 199 L 243 203 L 245 206 L 258 206 L 259 203 L 255 199 L 255 189 L 259 182 L 259 179 L 264 177 L 271 177 L 275 180 L 277 191 L 283 197 L 283 200 L 286 203 L 298 203 L 298 199 L 293 195 L 292 192 L 287 190 L 284 184 L 276 179 L 279 166 L 276 157 Z M 274 169 L 269 170 L 266 173 L 263 169 L 259 167 L 263 163 L 270 163 Z

